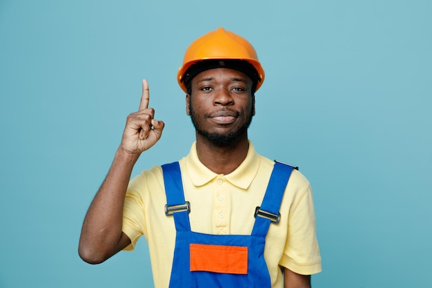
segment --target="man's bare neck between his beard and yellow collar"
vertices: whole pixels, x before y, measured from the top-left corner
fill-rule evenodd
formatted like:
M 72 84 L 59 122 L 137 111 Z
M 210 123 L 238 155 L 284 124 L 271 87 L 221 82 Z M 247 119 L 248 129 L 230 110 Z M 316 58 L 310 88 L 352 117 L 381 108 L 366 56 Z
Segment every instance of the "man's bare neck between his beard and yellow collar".
M 230 146 L 217 146 L 201 135 L 197 135 L 199 161 L 217 174 L 229 174 L 237 169 L 248 154 L 248 137 L 245 135 Z

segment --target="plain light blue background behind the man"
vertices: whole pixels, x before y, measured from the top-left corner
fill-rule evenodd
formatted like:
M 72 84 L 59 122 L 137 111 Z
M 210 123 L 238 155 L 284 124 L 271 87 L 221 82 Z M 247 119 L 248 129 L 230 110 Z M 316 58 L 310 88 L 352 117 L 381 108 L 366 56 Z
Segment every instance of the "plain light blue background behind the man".
M 429 287 L 431 1 L 0 0 L 0 287 L 153 287 L 146 241 L 77 254 L 86 209 L 137 110 L 166 122 L 133 175 L 195 138 L 177 69 L 218 26 L 266 71 L 250 138 L 313 185 L 314 287 Z

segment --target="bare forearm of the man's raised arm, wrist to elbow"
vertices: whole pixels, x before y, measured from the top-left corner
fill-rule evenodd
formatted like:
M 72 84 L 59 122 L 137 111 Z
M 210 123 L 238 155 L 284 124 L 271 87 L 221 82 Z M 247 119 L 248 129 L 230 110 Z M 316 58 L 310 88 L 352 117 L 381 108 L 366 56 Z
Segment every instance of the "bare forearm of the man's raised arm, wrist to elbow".
M 137 155 L 119 148 L 110 171 L 90 204 L 79 239 L 79 256 L 86 262 L 99 263 L 123 249 L 123 206 L 126 189 Z

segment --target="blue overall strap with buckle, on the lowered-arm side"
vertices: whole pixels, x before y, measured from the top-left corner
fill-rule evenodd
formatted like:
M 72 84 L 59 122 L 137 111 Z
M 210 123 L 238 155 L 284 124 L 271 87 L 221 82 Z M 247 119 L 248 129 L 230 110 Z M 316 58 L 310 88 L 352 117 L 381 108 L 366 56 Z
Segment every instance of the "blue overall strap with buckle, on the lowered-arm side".
M 280 204 L 286 184 L 288 184 L 294 168 L 291 165 L 275 162 L 261 207 L 255 209 L 255 224 L 253 225 L 252 236 L 266 237 L 270 224 L 272 222 L 279 223 Z

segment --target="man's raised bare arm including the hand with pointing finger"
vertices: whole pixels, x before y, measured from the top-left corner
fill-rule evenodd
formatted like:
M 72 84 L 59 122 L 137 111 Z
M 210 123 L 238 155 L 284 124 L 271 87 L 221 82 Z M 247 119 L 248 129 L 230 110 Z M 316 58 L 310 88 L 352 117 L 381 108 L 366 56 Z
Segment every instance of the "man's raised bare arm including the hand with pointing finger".
M 153 119 L 155 111 L 148 108 L 148 101 L 149 89 L 144 80 L 139 111 L 128 116 L 110 171 L 90 204 L 81 229 L 78 253 L 90 264 L 104 262 L 130 244 L 121 231 L 130 174 L 139 155 L 160 139 L 164 129 L 164 122 Z

